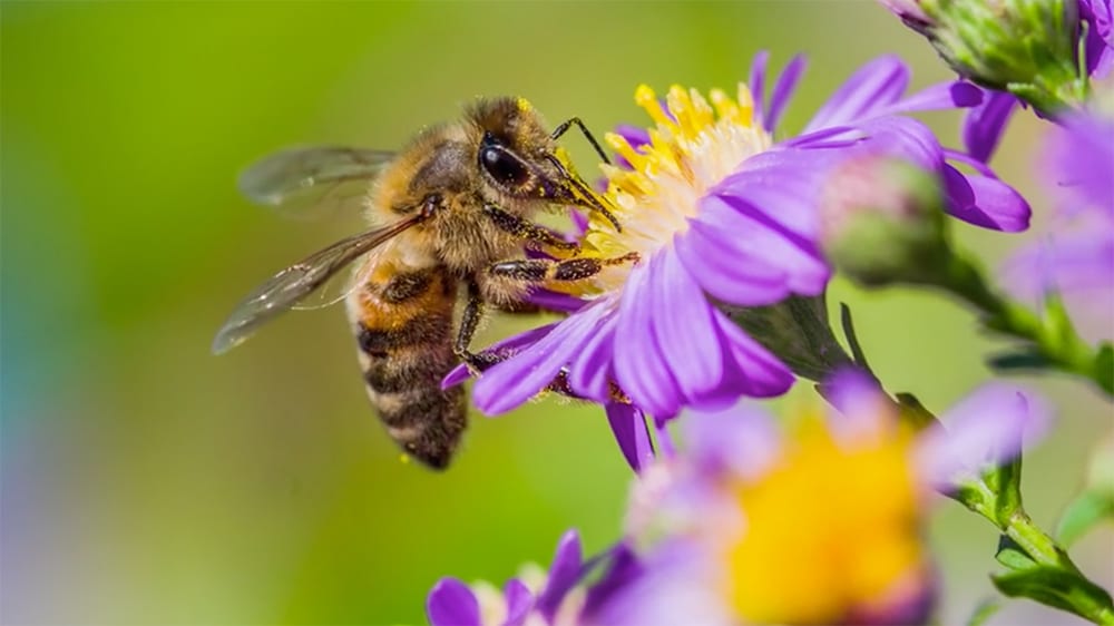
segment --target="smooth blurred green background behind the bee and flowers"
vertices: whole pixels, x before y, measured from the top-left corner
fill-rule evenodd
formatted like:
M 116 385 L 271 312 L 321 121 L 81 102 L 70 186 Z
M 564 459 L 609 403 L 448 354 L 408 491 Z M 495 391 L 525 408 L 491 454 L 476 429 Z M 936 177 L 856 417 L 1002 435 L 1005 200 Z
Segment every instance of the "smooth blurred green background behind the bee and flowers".
M 716 3 L 3 2 L 2 618 L 12 624 L 421 623 L 442 575 L 501 584 L 560 532 L 618 534 L 629 470 L 600 411 L 556 400 L 473 415 L 451 471 L 400 462 L 370 411 L 339 307 L 208 346 L 231 307 L 358 219 L 283 221 L 234 187 L 291 144 L 393 147 L 479 95 L 550 121 L 644 121 L 642 81 L 707 89 L 751 56 L 811 67 L 784 128 L 853 68 L 897 52 L 948 77 L 868 1 Z M 956 114 L 925 117 L 955 144 Z M 1044 205 L 1020 116 L 996 165 Z M 579 139 L 567 143 L 590 170 Z M 1044 223 L 1038 217 L 1037 225 Z M 990 263 L 1024 237 L 959 228 Z M 892 389 L 942 409 L 989 378 L 997 345 L 961 307 L 837 283 Z M 524 323 L 498 321 L 483 341 Z M 1108 405 L 1038 381 L 1059 428 L 1026 459 L 1052 526 Z M 781 405 L 811 402 L 808 385 Z M 941 501 L 941 623 L 993 596 L 995 534 Z M 1108 530 L 1074 552 L 1112 581 Z M 1012 603 L 991 624 L 1072 623 Z

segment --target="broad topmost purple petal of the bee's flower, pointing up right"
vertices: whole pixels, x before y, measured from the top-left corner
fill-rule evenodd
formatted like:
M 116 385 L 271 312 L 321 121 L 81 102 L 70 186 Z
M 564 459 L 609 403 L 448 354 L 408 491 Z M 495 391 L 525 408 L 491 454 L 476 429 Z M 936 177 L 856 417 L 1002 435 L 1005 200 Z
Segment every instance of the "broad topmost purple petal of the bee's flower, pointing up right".
M 898 101 L 908 84 L 909 68 L 901 59 L 891 55 L 874 59 L 836 90 L 804 127 L 804 133 L 872 117 Z

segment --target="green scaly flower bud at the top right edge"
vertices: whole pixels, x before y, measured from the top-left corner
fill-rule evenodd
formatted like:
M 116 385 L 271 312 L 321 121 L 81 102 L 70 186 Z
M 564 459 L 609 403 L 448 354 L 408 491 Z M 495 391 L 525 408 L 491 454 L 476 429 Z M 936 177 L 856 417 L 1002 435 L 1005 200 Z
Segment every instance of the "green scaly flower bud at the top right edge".
M 1082 101 L 1077 0 L 881 0 L 978 85 L 1045 114 Z

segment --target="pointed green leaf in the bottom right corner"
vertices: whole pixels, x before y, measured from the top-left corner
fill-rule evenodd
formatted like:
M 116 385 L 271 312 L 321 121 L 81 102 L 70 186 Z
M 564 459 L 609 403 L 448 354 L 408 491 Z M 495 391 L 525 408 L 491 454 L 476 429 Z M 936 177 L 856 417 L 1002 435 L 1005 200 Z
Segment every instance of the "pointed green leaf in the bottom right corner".
M 1029 598 L 1098 624 L 1114 618 L 1114 605 L 1105 589 L 1058 567 L 1038 565 L 990 579 L 1012 598 Z

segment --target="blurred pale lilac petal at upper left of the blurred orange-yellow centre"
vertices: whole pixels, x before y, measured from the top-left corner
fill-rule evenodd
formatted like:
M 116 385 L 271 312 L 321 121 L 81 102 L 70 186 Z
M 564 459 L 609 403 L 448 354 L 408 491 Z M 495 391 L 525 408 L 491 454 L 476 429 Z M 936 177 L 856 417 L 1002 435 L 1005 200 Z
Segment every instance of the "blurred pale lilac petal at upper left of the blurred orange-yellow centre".
M 779 458 L 781 436 L 773 419 L 758 407 L 687 413 L 682 428 L 688 456 L 710 476 L 743 479 L 762 476 Z

